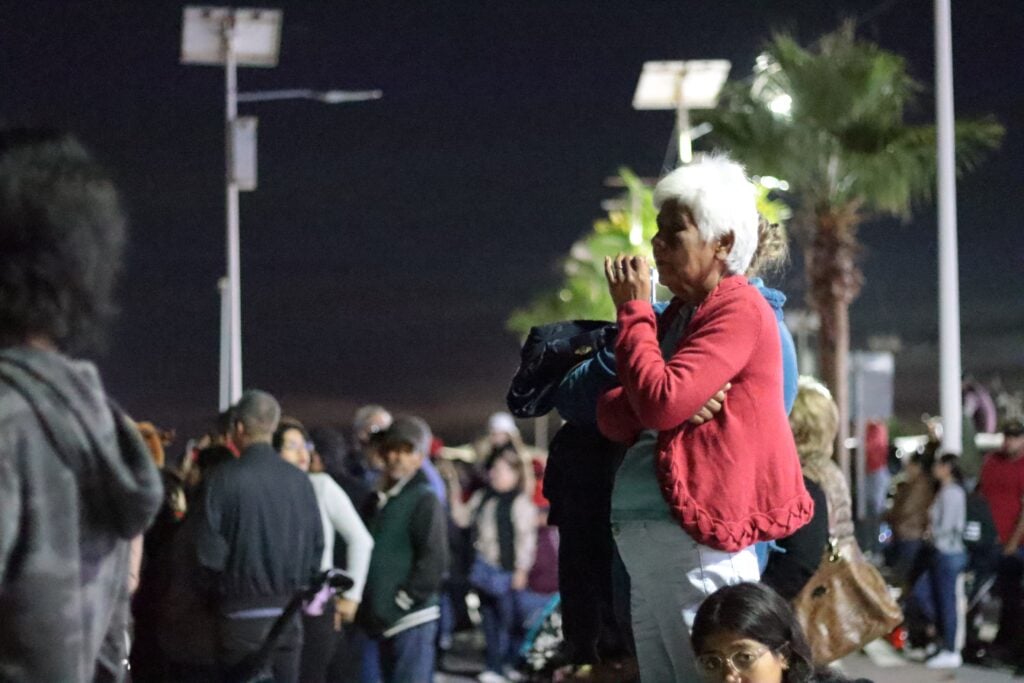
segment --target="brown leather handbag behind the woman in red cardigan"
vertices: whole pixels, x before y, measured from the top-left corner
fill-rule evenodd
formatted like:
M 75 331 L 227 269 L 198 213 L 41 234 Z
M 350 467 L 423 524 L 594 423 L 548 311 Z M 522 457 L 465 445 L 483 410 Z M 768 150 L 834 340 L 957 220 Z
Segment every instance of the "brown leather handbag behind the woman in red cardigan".
M 793 607 L 817 666 L 840 659 L 903 623 L 882 574 L 852 540 L 843 548 L 829 540 Z

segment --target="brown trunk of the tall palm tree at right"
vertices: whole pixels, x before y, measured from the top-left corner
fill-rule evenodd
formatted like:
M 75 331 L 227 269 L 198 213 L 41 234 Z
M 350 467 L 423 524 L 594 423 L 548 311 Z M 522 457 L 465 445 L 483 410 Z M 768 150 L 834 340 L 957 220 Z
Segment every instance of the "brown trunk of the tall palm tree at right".
M 821 321 L 818 333 L 821 380 L 839 408 L 836 459 L 850 481 L 850 303 L 860 294 L 863 275 L 857 267 L 858 205 L 819 205 L 813 214 L 813 237 L 805 251 L 810 304 Z

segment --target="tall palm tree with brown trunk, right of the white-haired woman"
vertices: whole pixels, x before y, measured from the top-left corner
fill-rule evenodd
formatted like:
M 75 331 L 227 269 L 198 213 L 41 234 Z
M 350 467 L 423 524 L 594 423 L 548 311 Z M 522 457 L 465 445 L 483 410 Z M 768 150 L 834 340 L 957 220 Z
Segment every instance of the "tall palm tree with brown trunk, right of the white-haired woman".
M 728 83 L 719 108 L 700 117 L 751 173 L 788 183 L 791 229 L 821 319 L 819 369 L 840 407 L 840 445 L 849 431 L 849 306 L 863 283 L 857 227 L 872 214 L 908 217 L 935 185 L 935 127 L 904 120 L 921 90 L 902 57 L 857 40 L 848 24 L 811 48 L 774 36 L 753 81 Z M 957 122 L 961 170 L 1001 136 L 992 120 Z M 849 475 L 846 449 L 837 453 Z

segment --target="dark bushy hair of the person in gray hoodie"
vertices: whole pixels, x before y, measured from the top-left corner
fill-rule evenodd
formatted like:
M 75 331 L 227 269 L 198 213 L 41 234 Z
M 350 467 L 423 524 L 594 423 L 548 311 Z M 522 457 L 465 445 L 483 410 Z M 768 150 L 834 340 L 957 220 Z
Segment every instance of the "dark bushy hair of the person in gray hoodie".
M 73 136 L 0 130 L 0 345 L 100 347 L 125 234 L 113 181 Z

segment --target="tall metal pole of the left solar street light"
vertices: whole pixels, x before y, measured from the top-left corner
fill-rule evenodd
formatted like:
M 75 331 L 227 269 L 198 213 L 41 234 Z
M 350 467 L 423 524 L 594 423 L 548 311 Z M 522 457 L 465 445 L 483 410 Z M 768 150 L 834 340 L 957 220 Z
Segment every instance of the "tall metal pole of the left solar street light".
M 225 82 L 225 180 L 227 187 L 227 285 L 229 315 L 229 394 L 236 402 L 242 396 L 242 280 L 239 240 L 239 185 L 234 181 L 231 154 L 232 127 L 238 116 L 238 70 L 234 56 L 233 16 L 224 24 L 224 82 Z

